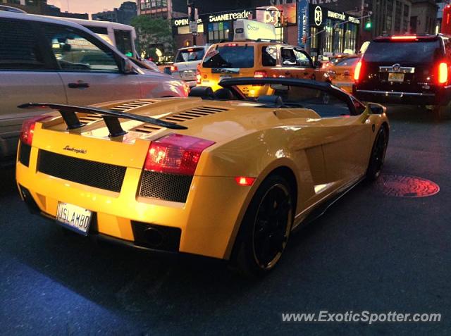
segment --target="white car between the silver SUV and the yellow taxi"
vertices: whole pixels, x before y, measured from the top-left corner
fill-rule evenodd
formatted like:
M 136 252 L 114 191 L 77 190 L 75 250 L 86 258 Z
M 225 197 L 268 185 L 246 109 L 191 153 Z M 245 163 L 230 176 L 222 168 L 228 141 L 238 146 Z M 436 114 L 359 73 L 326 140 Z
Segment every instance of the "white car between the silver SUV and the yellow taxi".
M 174 78 L 185 80 L 190 87 L 196 86 L 197 66 L 202 62 L 209 46 L 189 46 L 178 49 L 174 63 L 170 66 Z

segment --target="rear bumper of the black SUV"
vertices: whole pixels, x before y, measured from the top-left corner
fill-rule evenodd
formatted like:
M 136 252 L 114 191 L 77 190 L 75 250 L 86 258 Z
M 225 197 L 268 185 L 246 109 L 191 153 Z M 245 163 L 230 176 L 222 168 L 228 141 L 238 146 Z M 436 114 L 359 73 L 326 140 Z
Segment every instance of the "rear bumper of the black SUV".
M 354 85 L 352 92 L 355 97 L 362 101 L 381 104 L 445 105 L 451 100 L 451 86 L 444 87 L 435 93 L 423 93 L 360 89 Z

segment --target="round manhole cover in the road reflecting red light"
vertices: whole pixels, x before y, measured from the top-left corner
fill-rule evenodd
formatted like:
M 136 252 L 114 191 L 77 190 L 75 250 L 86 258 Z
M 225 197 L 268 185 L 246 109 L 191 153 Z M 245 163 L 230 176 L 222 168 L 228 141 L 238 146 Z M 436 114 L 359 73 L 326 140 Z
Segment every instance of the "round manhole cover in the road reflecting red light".
M 409 175 L 383 174 L 377 187 L 383 194 L 393 197 L 428 197 L 440 191 L 434 182 Z

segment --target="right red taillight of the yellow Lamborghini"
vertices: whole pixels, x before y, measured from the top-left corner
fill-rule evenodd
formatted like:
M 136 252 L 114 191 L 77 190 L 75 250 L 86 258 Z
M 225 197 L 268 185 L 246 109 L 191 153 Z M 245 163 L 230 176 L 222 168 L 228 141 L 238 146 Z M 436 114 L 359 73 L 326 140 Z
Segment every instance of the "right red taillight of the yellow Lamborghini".
M 144 170 L 194 175 L 202 151 L 214 143 L 189 135 L 166 135 L 150 144 Z

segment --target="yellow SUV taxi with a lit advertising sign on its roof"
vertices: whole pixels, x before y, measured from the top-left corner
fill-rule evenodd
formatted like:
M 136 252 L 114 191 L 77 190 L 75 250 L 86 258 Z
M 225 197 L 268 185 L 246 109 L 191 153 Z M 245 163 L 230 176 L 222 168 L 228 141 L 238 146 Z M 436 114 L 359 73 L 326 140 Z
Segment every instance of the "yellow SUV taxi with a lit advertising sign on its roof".
M 290 77 L 330 82 L 328 71 L 316 68 L 304 49 L 276 42 L 275 33 L 265 26 L 269 25 L 237 20 L 233 42 L 212 44 L 206 52 L 197 68 L 197 85 L 216 91 L 221 88 L 218 84 L 221 80 L 231 77 Z M 265 39 L 252 35 L 262 30 L 265 30 L 262 34 Z M 269 93 L 269 88 L 261 85 L 242 86 L 240 89 L 248 97 Z

